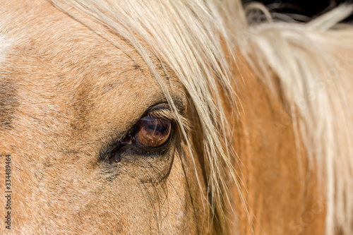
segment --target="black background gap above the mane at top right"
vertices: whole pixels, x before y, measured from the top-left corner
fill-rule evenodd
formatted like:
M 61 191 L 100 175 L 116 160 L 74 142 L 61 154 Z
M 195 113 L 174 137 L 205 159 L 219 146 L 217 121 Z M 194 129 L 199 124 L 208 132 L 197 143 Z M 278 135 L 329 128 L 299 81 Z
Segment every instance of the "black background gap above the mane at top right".
M 253 0 L 242 1 L 243 4 L 248 4 Z M 258 2 L 265 4 L 273 13 L 283 13 L 301 22 L 315 18 L 342 3 L 353 4 L 353 0 L 262 0 Z M 347 18 L 345 22 L 353 23 L 353 16 Z

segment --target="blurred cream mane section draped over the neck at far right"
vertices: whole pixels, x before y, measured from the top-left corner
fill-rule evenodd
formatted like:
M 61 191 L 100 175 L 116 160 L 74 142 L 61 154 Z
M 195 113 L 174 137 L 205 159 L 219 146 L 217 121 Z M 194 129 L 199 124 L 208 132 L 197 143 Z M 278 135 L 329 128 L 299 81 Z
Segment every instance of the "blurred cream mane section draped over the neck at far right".
M 229 7 L 229 6 L 228 6 Z M 261 5 L 246 9 L 264 23 L 234 25 L 234 45 L 254 73 L 280 94 L 325 188 L 326 234 L 353 233 L 353 27 L 337 24 L 353 6 L 344 5 L 307 24 L 273 22 Z M 244 13 L 241 21 L 246 18 Z M 238 16 L 239 17 L 239 16 Z M 280 123 L 285 128 L 288 123 Z M 299 166 L 301 158 L 298 157 Z M 310 171 L 311 169 L 301 169 Z M 304 174 L 301 177 L 304 186 Z

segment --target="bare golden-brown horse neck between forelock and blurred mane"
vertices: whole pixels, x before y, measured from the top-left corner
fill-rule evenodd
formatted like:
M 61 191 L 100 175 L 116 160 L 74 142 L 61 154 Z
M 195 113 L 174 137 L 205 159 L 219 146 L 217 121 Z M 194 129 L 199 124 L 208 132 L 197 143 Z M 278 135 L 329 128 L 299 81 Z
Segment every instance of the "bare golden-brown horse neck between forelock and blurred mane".
M 235 186 L 231 192 L 238 223 L 230 224 L 239 224 L 236 229 L 245 234 L 323 234 L 323 191 L 316 170 L 309 170 L 280 92 L 271 92 L 253 76 L 241 57 L 231 68 L 241 112 L 229 124 L 234 126 L 231 141 L 239 157 L 234 167 L 242 182 L 241 193 Z M 232 116 L 232 106 L 225 104 L 225 109 Z

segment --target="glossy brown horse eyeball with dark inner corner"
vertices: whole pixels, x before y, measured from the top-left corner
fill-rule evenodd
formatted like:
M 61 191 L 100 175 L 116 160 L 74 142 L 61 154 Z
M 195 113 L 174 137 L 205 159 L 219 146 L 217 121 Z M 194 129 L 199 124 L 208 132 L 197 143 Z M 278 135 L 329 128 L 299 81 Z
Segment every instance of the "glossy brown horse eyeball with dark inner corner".
M 146 147 L 160 147 L 167 142 L 171 131 L 172 121 L 159 116 L 145 116 L 138 120 L 121 144 L 138 143 Z

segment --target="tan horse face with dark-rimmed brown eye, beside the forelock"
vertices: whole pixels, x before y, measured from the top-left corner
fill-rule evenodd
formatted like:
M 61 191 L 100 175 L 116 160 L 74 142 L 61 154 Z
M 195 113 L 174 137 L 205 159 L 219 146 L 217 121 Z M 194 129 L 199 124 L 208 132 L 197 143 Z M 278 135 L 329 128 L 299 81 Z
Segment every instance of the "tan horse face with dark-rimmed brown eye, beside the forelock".
M 13 231 L 208 233 L 203 176 L 197 180 L 164 92 L 136 50 L 119 37 L 114 46 L 50 4 L 6 4 L 0 145 L 12 157 Z M 186 115 L 177 78 L 166 82 Z M 167 129 L 161 144 L 139 140 L 156 138 L 150 126 Z

